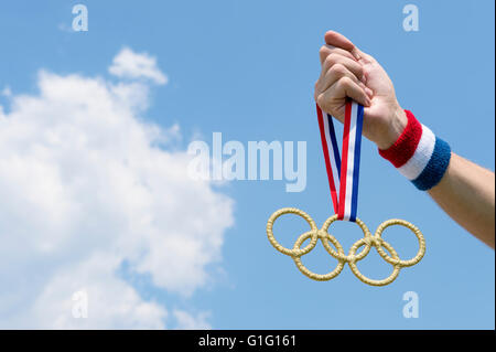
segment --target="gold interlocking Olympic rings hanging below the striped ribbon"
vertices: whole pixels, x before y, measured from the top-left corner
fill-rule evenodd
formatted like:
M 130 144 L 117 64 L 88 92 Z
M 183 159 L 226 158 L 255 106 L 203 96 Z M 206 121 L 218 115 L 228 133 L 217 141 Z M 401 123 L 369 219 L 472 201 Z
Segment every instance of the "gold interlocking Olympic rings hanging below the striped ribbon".
M 306 223 L 310 225 L 310 231 L 300 235 L 300 237 L 294 243 L 294 246 L 292 249 L 285 248 L 282 245 L 280 245 L 279 242 L 277 242 L 276 237 L 273 236 L 273 232 L 272 232 L 273 223 L 276 222 L 276 220 L 279 216 L 281 216 L 283 214 L 299 215 L 299 216 L 303 217 L 306 221 Z M 364 237 L 362 237 L 360 239 L 355 242 L 353 244 L 353 246 L 349 248 L 348 255 L 345 255 L 339 242 L 333 235 L 331 235 L 328 233 L 328 227 L 336 220 L 337 220 L 337 215 L 333 215 L 333 216 L 328 217 L 325 221 L 322 228 L 319 230 L 315 222 L 313 221 L 313 218 L 310 217 L 310 215 L 306 214 L 305 212 L 303 212 L 299 209 L 295 209 L 295 207 L 283 207 L 283 209 L 278 210 L 277 212 L 274 212 L 270 216 L 269 221 L 267 222 L 267 237 L 269 238 L 269 242 L 272 244 L 272 246 L 277 250 L 290 256 L 294 260 L 294 264 L 296 265 L 298 269 L 303 275 L 305 275 L 306 277 L 309 277 L 313 280 L 317 280 L 317 281 L 327 281 L 327 280 L 335 278 L 337 275 L 341 274 L 341 271 L 344 268 L 344 265 L 346 263 L 348 263 L 349 268 L 352 269 L 353 274 L 363 282 L 365 282 L 367 285 L 371 285 L 371 286 L 389 285 L 398 277 L 399 271 L 402 267 L 409 267 L 409 266 L 416 265 L 417 263 L 419 263 L 422 259 L 423 255 L 425 254 L 425 239 L 423 238 L 423 235 L 420 232 L 420 230 L 417 226 L 414 226 L 413 224 L 411 224 L 405 220 L 391 218 L 391 220 L 388 220 L 388 221 L 385 221 L 384 223 L 381 223 L 377 227 L 375 234 L 371 235 L 367 225 L 365 225 L 365 223 L 357 217 L 356 224 L 362 228 L 362 231 L 364 233 Z M 397 252 L 395 250 L 395 248 L 389 243 L 387 243 L 386 241 L 382 239 L 382 237 L 381 237 L 382 232 L 387 227 L 392 226 L 392 225 L 405 226 L 405 227 L 409 228 L 417 236 L 417 239 L 419 241 L 419 252 L 417 253 L 417 255 L 413 258 L 408 259 L 408 260 L 401 260 L 399 258 Z M 302 249 L 301 248 L 302 244 L 309 238 L 311 238 L 310 243 Z M 325 250 L 332 257 L 337 259 L 337 266 L 327 274 L 315 274 L 315 273 L 309 270 L 301 262 L 301 257 L 303 255 L 310 253 L 313 248 L 315 248 L 319 239 L 321 239 Z M 330 242 L 334 245 L 336 250 L 331 246 Z M 362 249 L 362 252 L 356 254 L 357 250 L 363 246 L 364 246 L 364 249 Z M 379 255 L 387 263 L 391 264 L 393 267 L 392 273 L 385 279 L 374 280 L 374 279 L 366 277 L 358 270 L 357 263 L 368 255 L 368 253 L 370 252 L 370 248 L 373 246 L 377 249 Z M 389 252 L 389 254 L 386 253 L 386 250 L 382 247 L 386 248 L 386 250 Z

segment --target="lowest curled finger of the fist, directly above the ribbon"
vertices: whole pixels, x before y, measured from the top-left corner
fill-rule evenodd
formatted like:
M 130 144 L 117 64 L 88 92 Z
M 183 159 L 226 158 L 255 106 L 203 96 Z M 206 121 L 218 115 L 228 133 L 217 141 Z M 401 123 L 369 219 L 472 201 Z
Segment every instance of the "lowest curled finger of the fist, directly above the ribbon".
M 326 90 L 319 94 L 316 102 L 325 111 L 334 114 L 333 107 L 343 105 L 342 102 L 344 102 L 346 97 L 354 99 L 363 106 L 370 106 L 370 99 L 365 90 L 348 76 L 339 78 Z

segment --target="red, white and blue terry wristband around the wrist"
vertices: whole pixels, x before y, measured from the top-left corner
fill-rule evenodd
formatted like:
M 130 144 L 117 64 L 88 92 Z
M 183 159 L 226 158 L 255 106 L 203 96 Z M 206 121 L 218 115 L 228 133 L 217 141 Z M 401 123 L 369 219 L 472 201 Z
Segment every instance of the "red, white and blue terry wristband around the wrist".
M 408 124 L 398 140 L 379 154 L 389 160 L 398 171 L 419 190 L 427 191 L 441 181 L 450 164 L 451 148 L 413 114 L 405 110 Z

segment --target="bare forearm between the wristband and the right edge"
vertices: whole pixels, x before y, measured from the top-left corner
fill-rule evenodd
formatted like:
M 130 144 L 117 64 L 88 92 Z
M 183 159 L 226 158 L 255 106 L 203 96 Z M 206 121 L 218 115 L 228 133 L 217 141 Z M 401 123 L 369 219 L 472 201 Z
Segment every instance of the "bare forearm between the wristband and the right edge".
M 495 174 L 455 153 L 444 177 L 428 191 L 456 223 L 495 247 Z

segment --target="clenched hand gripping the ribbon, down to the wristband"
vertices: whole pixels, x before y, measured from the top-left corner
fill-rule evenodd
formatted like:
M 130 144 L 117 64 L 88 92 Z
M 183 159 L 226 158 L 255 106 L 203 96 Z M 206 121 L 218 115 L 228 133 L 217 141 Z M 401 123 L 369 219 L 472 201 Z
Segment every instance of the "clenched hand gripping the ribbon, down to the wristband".
M 326 113 L 344 121 L 346 98 L 362 104 L 363 135 L 380 149 L 389 148 L 407 126 L 395 87 L 386 71 L 348 39 L 325 33 L 320 50 L 322 72 L 315 84 L 315 102 Z

